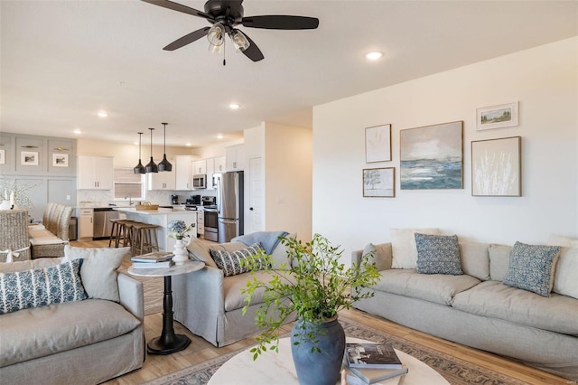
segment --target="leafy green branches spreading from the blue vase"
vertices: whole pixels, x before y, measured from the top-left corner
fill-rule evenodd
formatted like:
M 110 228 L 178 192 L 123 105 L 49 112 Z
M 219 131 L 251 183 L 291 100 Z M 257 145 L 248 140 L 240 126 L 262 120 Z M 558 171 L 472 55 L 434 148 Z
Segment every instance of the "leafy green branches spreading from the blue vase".
M 373 296 L 373 292 L 363 289 L 377 284 L 380 277 L 370 254 L 361 258 L 359 265 L 345 268 L 340 263 L 343 251 L 339 246 L 331 246 L 320 234 L 305 243 L 294 238 L 280 239 L 292 258 L 291 266 L 283 264 L 278 269 L 269 269 L 273 274 L 268 282 L 253 277 L 242 290 L 247 295 L 243 315 L 253 296 L 263 292 L 263 305 L 256 311 L 255 322 L 265 330 L 256 337 L 258 344 L 251 349 L 254 360 L 267 349 L 279 351 L 280 327 L 290 315 L 296 313 L 303 330 L 305 324 L 320 325 L 336 317 L 341 309 L 349 309 L 356 301 Z M 272 266 L 271 256 L 262 251 L 247 258 L 253 273 L 257 258 L 267 258 L 268 266 Z M 312 341 L 312 351 L 320 352 L 316 346 L 318 333 L 314 327 L 309 330 L 299 334 L 299 338 Z

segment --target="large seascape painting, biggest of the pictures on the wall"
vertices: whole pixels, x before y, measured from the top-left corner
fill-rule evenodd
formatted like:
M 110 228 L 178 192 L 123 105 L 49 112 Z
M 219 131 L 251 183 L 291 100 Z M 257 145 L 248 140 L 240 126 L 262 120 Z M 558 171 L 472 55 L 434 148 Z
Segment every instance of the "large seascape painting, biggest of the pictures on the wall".
M 400 131 L 402 190 L 463 188 L 463 121 Z

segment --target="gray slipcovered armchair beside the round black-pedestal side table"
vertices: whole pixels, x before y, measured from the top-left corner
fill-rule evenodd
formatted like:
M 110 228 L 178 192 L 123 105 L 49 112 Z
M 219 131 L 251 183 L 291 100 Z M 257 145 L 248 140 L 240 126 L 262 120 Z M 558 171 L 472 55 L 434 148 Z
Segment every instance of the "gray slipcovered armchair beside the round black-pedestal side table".
M 205 268 L 187 275 L 172 277 L 172 303 L 174 319 L 192 333 L 200 335 L 215 346 L 226 346 L 261 332 L 255 324 L 256 310 L 261 306 L 261 296 L 253 296 L 253 304 L 243 315 L 246 305 L 241 289 L 254 276 L 242 273 L 226 277 L 210 256 L 210 249 L 236 251 L 246 249 L 247 244 L 232 241 L 208 246 L 193 240 L 187 246 L 191 259 L 205 262 Z M 271 250 L 274 265 L 290 263 L 286 248 L 279 243 Z M 268 280 L 273 272 L 256 272 L 255 277 Z M 294 317 L 286 320 L 294 321 Z

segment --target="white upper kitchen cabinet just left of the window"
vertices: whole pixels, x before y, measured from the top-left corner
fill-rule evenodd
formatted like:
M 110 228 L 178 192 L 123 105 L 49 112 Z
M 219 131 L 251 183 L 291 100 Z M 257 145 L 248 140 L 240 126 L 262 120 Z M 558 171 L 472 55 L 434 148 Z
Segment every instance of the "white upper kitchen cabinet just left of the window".
M 78 157 L 79 190 L 112 190 L 114 169 L 112 156 Z

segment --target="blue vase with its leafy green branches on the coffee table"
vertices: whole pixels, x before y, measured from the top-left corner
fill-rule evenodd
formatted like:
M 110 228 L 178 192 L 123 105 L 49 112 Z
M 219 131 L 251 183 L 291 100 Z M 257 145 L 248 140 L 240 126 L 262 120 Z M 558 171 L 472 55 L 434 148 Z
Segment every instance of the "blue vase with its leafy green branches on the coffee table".
M 268 282 L 253 277 L 242 290 L 247 294 L 244 314 L 252 296 L 263 293 L 256 324 L 265 330 L 256 337 L 258 344 L 251 349 L 253 359 L 267 350 L 278 352 L 280 326 L 287 317 L 296 314 L 291 343 L 299 383 L 333 385 L 339 380 L 345 350 L 345 332 L 337 320 L 338 312 L 349 309 L 359 299 L 373 296 L 373 292 L 363 289 L 378 283 L 378 268 L 371 255 L 364 256 L 359 266 L 345 268 L 340 263 L 343 251 L 331 246 L 320 234 L 306 243 L 281 237 L 281 243 L 288 249 L 291 266 L 270 269 Z M 271 262 L 264 251 L 248 259 L 252 271 L 256 271 L 262 258 Z

